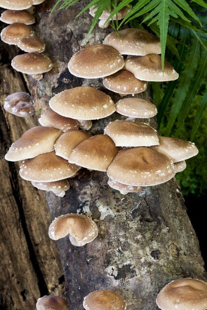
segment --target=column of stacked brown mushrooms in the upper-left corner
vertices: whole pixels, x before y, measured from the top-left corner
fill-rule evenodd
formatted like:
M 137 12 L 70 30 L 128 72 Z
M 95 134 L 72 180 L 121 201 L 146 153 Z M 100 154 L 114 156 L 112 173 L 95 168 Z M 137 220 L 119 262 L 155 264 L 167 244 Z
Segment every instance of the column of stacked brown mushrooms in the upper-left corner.
M 7 44 L 17 45 L 26 54 L 15 56 L 11 66 L 36 80 L 42 79 L 42 74 L 52 69 L 52 62 L 41 54 L 45 50 L 45 43 L 35 37 L 30 25 L 35 22 L 32 15 L 35 11 L 33 5 L 44 0 L 0 0 L 0 7 L 6 8 L 0 20 L 9 24 L 0 33 L 1 40 Z

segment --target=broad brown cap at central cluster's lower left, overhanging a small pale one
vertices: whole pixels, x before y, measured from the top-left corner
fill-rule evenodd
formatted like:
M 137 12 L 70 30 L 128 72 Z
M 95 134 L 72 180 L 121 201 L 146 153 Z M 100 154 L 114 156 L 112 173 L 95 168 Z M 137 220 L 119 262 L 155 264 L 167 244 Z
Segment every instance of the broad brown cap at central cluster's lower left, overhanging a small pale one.
M 55 152 L 49 152 L 23 161 L 19 174 L 27 181 L 54 182 L 72 177 L 79 169 Z

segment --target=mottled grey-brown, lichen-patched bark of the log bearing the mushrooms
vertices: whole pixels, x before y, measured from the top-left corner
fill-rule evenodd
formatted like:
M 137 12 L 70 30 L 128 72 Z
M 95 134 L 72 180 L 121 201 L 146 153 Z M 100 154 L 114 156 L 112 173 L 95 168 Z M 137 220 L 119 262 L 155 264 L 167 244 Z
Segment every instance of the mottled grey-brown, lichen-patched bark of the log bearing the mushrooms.
M 54 63 L 42 81 L 29 78 L 36 111 L 46 110 L 48 100 L 67 88 L 91 85 L 104 90 L 100 80 L 79 79 L 67 70 L 68 60 L 84 45 L 91 24 L 88 13 L 74 22 L 86 2 L 49 16 L 54 2 L 45 1 L 36 14 L 34 28 Z M 102 42 L 109 31 L 96 27 L 89 43 Z M 118 96 L 107 93 L 117 100 Z M 102 133 L 106 124 L 119 118 L 114 114 L 94 122 L 91 132 Z M 151 125 L 155 126 L 154 120 Z M 102 172 L 82 169 L 70 183 L 65 197 L 47 195 L 52 219 L 78 212 L 91 216 L 99 227 L 98 237 L 85 247 L 71 246 L 68 238 L 57 242 L 71 310 L 83 310 L 84 296 L 99 289 L 119 292 L 128 310 L 155 310 L 157 293 L 172 279 L 206 279 L 199 243 L 175 179 L 125 196 L 108 187 Z

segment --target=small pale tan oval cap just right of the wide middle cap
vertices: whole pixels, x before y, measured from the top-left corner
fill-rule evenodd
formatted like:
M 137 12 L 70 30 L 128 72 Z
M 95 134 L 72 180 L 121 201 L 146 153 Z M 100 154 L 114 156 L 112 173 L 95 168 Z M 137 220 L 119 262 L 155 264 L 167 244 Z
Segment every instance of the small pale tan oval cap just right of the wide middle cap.
M 156 106 L 141 98 L 124 98 L 116 103 L 116 112 L 128 117 L 148 119 L 154 117 L 158 110 Z

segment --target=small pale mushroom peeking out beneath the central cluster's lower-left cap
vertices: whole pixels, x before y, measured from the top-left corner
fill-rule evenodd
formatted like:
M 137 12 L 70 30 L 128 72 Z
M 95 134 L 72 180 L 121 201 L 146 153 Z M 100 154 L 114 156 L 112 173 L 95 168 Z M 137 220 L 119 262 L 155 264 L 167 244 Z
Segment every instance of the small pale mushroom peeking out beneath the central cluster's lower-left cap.
M 60 180 L 55 182 L 31 182 L 32 185 L 38 189 L 52 191 L 56 196 L 63 197 L 65 191 L 70 188 L 67 180 Z

